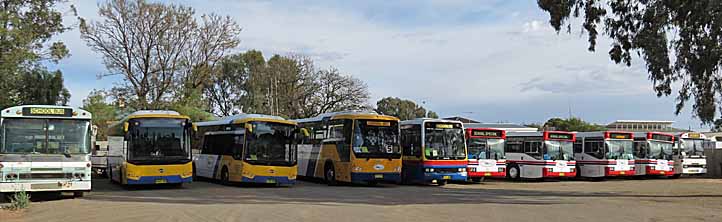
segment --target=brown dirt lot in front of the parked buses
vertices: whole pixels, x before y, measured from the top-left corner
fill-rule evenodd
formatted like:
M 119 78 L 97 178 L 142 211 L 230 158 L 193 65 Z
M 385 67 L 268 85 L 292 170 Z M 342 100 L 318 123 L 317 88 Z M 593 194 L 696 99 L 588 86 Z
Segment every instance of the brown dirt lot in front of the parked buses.
M 718 179 L 131 190 L 94 182 L 84 198 L 0 211 L 0 221 L 722 221 Z

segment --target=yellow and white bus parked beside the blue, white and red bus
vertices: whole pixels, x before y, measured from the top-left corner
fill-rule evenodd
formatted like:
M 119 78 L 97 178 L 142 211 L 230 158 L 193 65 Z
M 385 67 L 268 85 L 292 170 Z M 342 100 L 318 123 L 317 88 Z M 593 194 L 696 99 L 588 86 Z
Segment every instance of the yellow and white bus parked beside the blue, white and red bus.
M 346 111 L 296 120 L 310 132 L 298 146 L 298 174 L 329 185 L 399 183 L 399 119 Z

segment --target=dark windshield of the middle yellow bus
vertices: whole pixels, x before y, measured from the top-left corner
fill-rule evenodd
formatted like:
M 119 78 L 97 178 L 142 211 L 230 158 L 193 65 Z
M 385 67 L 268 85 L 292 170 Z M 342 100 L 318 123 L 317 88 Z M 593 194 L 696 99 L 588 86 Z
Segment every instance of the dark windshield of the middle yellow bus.
M 292 166 L 296 164 L 296 126 L 272 122 L 251 122 L 244 160 L 250 164 Z

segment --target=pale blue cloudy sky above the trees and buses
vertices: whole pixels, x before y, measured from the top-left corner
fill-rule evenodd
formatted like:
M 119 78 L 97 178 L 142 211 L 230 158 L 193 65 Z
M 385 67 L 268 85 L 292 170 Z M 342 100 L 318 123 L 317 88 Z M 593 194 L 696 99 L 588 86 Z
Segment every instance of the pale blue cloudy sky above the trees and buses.
M 71 1 L 97 19 L 96 1 Z M 300 53 L 364 80 L 370 104 L 386 96 L 425 101 L 442 116 L 484 122 L 543 122 L 572 115 L 606 124 L 616 119 L 673 120 L 700 128 L 689 108 L 674 115 L 674 97 L 657 98 L 641 60 L 612 63 L 601 39 L 586 51 L 578 29 L 557 35 L 536 1 L 177 1 L 198 14 L 230 15 L 243 28 L 235 51 Z M 65 74 L 71 105 L 92 89 L 110 88 L 102 58 L 77 30 L 58 38 L 72 57 Z M 689 106 L 691 107 L 691 106 Z

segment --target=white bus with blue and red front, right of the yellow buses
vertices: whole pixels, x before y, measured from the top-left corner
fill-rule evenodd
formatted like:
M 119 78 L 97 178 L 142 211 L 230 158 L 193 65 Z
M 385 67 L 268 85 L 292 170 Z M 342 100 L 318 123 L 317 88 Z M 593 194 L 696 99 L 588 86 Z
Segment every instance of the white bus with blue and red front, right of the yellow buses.
M 401 122 L 403 183 L 466 181 L 468 158 L 461 122 L 415 119 Z

